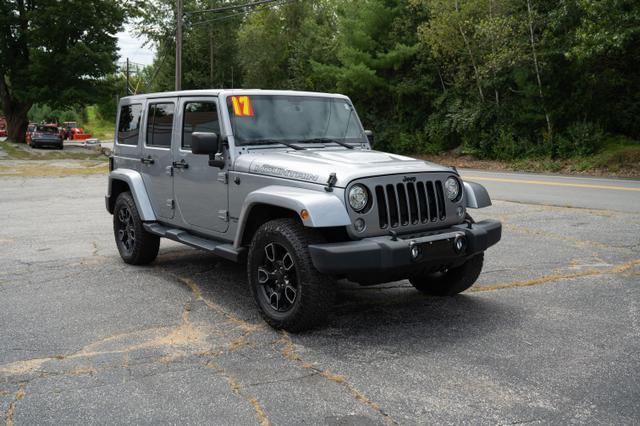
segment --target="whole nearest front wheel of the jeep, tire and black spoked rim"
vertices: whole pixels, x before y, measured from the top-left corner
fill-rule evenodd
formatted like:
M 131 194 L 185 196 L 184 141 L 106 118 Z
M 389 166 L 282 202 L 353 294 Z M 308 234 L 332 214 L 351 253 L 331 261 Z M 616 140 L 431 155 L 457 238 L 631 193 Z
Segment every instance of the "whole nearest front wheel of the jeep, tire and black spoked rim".
M 248 278 L 264 320 L 298 332 L 321 324 L 335 295 L 335 283 L 319 273 L 308 245 L 318 236 L 293 219 L 262 225 L 251 242 Z

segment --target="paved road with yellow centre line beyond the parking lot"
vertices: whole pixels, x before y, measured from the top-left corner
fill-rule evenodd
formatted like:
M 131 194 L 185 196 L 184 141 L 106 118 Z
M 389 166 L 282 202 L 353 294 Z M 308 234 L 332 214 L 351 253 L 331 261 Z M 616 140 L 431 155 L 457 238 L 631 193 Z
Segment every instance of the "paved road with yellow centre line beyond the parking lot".
M 461 170 L 496 200 L 640 213 L 640 180 Z

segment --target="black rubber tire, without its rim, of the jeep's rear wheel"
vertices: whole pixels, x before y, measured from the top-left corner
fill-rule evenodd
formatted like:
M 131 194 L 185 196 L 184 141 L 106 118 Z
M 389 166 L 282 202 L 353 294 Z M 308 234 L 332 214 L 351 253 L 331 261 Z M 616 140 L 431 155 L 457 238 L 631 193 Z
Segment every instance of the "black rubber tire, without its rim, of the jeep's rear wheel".
M 119 237 L 121 230 L 120 214 L 121 211 L 127 210 L 131 215 L 131 229 L 134 231 L 134 242 L 128 249 L 125 243 Z M 142 219 L 136 207 L 135 201 L 131 193 L 126 191 L 118 195 L 115 206 L 113 208 L 113 234 L 116 240 L 116 246 L 120 252 L 120 257 L 125 263 L 130 265 L 146 265 L 153 262 L 158 256 L 160 249 L 160 237 L 150 234 L 142 226 Z

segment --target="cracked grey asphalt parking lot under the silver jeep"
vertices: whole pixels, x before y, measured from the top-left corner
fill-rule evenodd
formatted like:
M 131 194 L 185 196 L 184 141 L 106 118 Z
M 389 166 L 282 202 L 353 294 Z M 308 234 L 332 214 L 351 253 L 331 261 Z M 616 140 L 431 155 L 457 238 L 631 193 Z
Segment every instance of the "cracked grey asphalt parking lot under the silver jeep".
M 475 217 L 502 220 L 503 240 L 472 291 L 341 282 L 326 327 L 289 335 L 261 321 L 241 266 L 164 241 L 125 265 L 105 186 L 0 179 L 9 425 L 640 420 L 633 211 L 494 201 Z

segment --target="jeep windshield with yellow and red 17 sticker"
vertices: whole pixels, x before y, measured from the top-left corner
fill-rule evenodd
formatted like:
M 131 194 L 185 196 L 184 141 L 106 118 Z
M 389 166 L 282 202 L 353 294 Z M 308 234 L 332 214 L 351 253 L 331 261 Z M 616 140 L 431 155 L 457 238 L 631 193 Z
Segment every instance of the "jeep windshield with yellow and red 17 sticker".
M 227 98 L 238 145 L 260 142 L 366 141 L 353 106 L 345 99 L 255 95 Z

